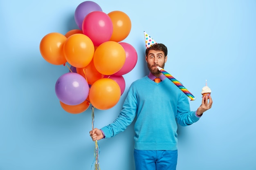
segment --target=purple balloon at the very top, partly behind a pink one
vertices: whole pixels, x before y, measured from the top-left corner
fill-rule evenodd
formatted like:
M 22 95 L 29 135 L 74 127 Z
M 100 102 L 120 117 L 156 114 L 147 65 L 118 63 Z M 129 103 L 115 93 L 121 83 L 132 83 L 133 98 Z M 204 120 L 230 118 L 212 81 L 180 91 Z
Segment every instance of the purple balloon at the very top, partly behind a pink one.
M 75 10 L 75 22 L 82 29 L 83 19 L 92 11 L 102 11 L 101 7 L 92 1 L 85 1 L 79 4 Z

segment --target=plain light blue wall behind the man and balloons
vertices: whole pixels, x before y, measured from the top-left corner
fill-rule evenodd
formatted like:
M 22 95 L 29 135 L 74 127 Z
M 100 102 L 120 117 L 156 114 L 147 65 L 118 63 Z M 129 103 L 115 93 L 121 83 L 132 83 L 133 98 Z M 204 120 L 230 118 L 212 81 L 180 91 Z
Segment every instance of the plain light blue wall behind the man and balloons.
M 89 108 L 72 115 L 56 97 L 65 66 L 46 62 L 40 40 L 78 27 L 79 0 L 0 1 L 0 170 L 90 170 L 94 142 Z M 148 74 L 146 31 L 168 46 L 165 69 L 186 86 L 200 106 L 207 79 L 213 107 L 196 124 L 179 127 L 177 170 L 256 169 L 256 1 L 95 0 L 103 12 L 123 11 L 132 22 L 128 37 L 138 53 L 124 75 L 126 90 L 109 110 L 95 109 L 94 127 L 115 120 L 130 84 Z M 134 170 L 133 127 L 99 141 L 102 170 Z

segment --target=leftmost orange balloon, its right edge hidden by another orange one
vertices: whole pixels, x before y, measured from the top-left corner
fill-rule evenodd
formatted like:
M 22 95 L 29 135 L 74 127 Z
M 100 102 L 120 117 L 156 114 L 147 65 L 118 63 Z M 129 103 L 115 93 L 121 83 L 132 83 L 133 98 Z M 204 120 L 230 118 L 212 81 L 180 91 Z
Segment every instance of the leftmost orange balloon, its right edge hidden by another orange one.
M 63 53 L 63 45 L 67 38 L 61 33 L 49 33 L 40 42 L 40 53 L 43 58 L 54 65 L 67 62 Z

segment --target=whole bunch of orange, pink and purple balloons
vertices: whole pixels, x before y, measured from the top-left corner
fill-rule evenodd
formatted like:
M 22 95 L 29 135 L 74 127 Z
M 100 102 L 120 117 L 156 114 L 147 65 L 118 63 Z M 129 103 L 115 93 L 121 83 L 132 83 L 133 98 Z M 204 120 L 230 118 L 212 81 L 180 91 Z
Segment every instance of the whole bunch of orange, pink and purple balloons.
M 82 113 L 90 104 L 112 108 L 124 93 L 123 75 L 137 63 L 135 48 L 121 42 L 130 33 L 130 18 L 122 11 L 106 14 L 97 3 L 85 1 L 76 7 L 74 19 L 80 29 L 49 33 L 40 42 L 47 62 L 70 64 L 69 73 L 56 81 L 56 96 L 68 113 Z

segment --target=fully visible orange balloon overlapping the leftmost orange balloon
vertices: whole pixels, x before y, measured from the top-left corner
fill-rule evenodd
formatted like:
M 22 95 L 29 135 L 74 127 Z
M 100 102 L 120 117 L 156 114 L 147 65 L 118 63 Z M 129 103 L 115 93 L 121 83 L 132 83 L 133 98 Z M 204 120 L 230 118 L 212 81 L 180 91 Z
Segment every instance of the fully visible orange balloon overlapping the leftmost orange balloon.
M 94 45 L 92 40 L 84 34 L 71 35 L 63 48 L 67 62 L 76 68 L 83 68 L 92 61 Z

